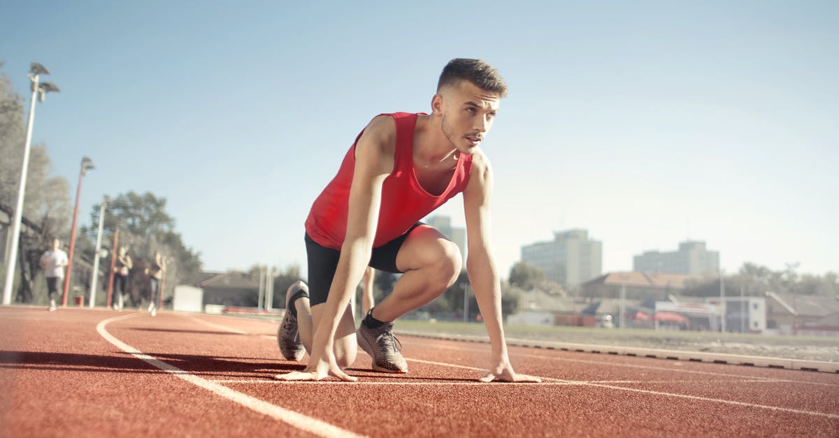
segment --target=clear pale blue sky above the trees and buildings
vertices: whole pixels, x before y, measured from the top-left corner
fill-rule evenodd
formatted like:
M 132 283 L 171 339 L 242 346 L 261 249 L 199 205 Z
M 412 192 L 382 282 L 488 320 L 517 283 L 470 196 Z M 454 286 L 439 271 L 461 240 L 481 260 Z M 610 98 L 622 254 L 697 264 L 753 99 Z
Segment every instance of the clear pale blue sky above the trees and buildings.
M 225 4 L 227 3 L 227 4 Z M 483 144 L 493 248 L 586 228 L 603 269 L 686 238 L 839 271 L 839 3 L 41 2 L 0 7 L 0 59 L 62 92 L 34 142 L 75 194 L 168 200 L 206 269 L 305 268 L 303 222 L 378 112 L 429 111 L 447 60 L 510 86 Z M 440 211 L 463 225 L 461 198 Z M 305 271 L 304 271 L 305 272 Z

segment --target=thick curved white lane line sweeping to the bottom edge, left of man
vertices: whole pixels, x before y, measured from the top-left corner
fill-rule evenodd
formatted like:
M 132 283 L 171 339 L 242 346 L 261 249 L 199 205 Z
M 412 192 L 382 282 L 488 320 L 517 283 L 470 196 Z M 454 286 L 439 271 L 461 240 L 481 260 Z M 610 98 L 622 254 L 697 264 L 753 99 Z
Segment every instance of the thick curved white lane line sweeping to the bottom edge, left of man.
M 315 418 L 302 415 L 300 413 L 294 412 L 293 410 L 281 408 L 275 404 L 270 404 L 264 400 L 257 399 L 255 397 L 251 397 L 247 394 L 242 394 L 240 392 L 234 391 L 231 388 L 227 388 L 218 383 L 211 382 L 205 378 L 200 378 L 195 376 L 194 374 L 187 373 L 184 370 L 169 365 L 169 363 L 159 361 L 158 359 L 145 354 L 138 349 L 129 346 L 125 342 L 118 340 L 116 337 L 112 336 L 106 330 L 106 326 L 111 323 L 112 321 L 124 320 L 127 318 L 131 318 L 135 315 L 124 315 L 124 316 L 117 316 L 114 318 L 108 318 L 107 320 L 100 321 L 99 324 L 96 325 L 96 331 L 99 332 L 107 342 L 111 342 L 114 346 L 122 350 L 123 352 L 127 352 L 133 357 L 137 357 L 140 360 L 148 362 L 152 366 L 159 368 L 166 373 L 173 374 L 179 378 L 184 379 L 185 381 L 192 383 L 198 387 L 205 388 L 208 391 L 211 391 L 213 394 L 220 395 L 225 399 L 232 400 L 238 404 L 242 404 L 248 409 L 253 409 L 261 414 L 268 415 L 275 420 L 283 421 L 289 425 L 292 425 L 298 429 L 305 430 L 315 435 L 319 436 L 335 436 L 335 437 L 344 437 L 344 436 L 362 436 L 356 435 L 349 430 L 341 429 L 335 425 L 330 425 L 325 421 L 317 420 Z

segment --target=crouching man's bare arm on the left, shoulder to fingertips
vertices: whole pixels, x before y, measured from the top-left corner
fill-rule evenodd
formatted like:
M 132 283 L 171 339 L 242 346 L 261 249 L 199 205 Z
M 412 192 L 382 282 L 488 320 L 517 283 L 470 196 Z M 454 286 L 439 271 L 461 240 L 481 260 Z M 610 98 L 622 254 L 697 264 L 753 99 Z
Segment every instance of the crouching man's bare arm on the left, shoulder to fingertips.
M 343 380 L 355 380 L 337 366 L 333 352 L 335 334 L 341 315 L 373 253 L 382 185 L 393 171 L 395 134 L 393 118 L 380 116 L 367 125 L 356 143 L 356 164 L 347 211 L 347 234 L 341 246 L 341 256 L 338 258 L 323 317 L 320 325 L 315 327 L 306 373 L 289 375 L 289 379 L 320 380 L 332 374 Z

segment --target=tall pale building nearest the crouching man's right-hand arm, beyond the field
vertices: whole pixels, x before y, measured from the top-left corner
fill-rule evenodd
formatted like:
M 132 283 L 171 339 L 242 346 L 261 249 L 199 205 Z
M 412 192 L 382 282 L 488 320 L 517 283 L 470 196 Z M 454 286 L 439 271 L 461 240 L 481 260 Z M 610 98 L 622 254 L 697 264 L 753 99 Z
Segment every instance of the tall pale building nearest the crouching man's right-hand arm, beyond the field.
M 568 288 L 602 274 L 603 244 L 586 230 L 555 232 L 554 240 L 522 247 L 522 262 L 545 271 L 545 279 Z

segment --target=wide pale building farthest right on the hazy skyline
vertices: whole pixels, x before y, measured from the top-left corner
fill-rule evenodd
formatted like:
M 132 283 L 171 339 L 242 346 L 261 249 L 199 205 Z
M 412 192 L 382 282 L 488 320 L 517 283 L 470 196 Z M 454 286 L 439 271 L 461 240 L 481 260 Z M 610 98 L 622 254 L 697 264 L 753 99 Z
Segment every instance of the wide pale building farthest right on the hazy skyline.
M 720 253 L 708 251 L 705 242 L 685 241 L 670 253 L 644 251 L 633 257 L 633 270 L 654 274 L 702 275 L 720 270 Z

